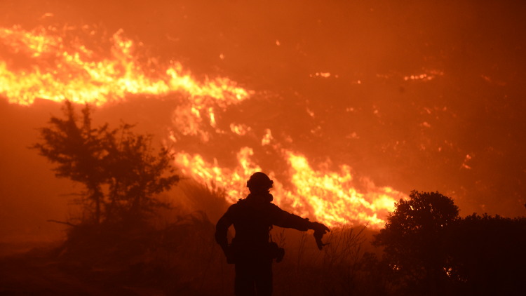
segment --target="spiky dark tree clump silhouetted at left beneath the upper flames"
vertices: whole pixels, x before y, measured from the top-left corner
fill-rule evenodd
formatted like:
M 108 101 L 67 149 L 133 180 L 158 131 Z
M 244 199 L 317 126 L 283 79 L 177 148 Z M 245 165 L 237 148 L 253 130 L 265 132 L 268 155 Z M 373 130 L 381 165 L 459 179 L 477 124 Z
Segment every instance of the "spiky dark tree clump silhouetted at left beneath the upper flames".
M 84 184 L 88 199 L 82 204 L 93 215 L 83 222 L 137 221 L 167 206 L 154 198 L 179 180 L 167 149 L 155 153 L 151 136 L 133 133 L 128 124 L 93 128 L 88 105 L 81 118 L 71 102 L 63 111 L 65 119 L 52 116 L 39 129 L 42 140 L 33 148 L 56 164 L 57 177 Z

